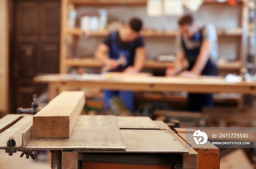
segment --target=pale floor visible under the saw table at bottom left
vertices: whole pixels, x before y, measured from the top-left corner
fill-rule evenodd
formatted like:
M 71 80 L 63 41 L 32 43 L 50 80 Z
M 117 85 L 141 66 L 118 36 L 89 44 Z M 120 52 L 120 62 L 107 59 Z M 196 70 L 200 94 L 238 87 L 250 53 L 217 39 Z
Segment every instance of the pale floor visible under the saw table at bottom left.
M 21 152 L 9 156 L 5 150 L 0 150 L 0 169 L 50 169 L 48 162 L 36 161 L 26 156 L 20 158 Z M 40 154 L 39 154 L 40 155 Z M 45 155 L 45 154 L 42 154 Z M 39 157 L 39 156 L 38 156 Z

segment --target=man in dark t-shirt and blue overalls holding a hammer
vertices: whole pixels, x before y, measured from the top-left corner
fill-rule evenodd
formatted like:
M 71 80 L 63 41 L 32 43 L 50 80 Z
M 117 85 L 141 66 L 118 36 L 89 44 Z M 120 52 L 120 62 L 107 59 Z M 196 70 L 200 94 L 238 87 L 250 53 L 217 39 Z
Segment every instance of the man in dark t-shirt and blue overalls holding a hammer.
M 118 31 L 111 32 L 98 46 L 95 57 L 101 61 L 109 72 L 138 73 L 142 70 L 146 60 L 144 40 L 139 32 L 142 21 L 132 18 L 129 23 Z M 121 57 L 125 58 L 125 65 L 120 64 Z M 134 112 L 134 92 L 104 90 L 104 107 L 110 108 L 109 101 L 118 96 L 125 106 Z

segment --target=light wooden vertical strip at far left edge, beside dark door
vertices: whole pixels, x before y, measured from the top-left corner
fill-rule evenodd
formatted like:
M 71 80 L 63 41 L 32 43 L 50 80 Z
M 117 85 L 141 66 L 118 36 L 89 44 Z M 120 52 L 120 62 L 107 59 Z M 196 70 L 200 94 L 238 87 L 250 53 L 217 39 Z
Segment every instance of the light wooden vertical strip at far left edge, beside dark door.
M 8 0 L 0 0 L 0 117 L 8 113 Z

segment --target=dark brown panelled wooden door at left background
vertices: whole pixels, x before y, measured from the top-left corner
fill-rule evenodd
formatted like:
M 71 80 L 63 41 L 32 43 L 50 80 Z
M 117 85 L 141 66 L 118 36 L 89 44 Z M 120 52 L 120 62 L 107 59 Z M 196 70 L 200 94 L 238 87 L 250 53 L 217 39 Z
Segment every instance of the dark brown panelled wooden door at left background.
M 47 91 L 33 82 L 39 73 L 59 73 L 60 0 L 13 0 L 10 45 L 10 110 L 31 106 Z

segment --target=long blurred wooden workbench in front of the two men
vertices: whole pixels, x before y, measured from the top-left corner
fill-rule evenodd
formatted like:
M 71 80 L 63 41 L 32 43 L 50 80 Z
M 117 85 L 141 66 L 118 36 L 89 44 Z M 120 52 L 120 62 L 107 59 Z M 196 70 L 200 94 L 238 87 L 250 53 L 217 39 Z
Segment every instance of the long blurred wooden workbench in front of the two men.
M 48 83 L 50 100 L 61 91 L 72 88 L 98 88 L 129 91 L 191 92 L 191 93 L 241 93 L 255 94 L 256 81 L 226 82 L 223 77 L 199 76 L 197 78 L 154 76 L 86 77 L 74 74 L 49 74 L 36 76 L 35 82 Z

